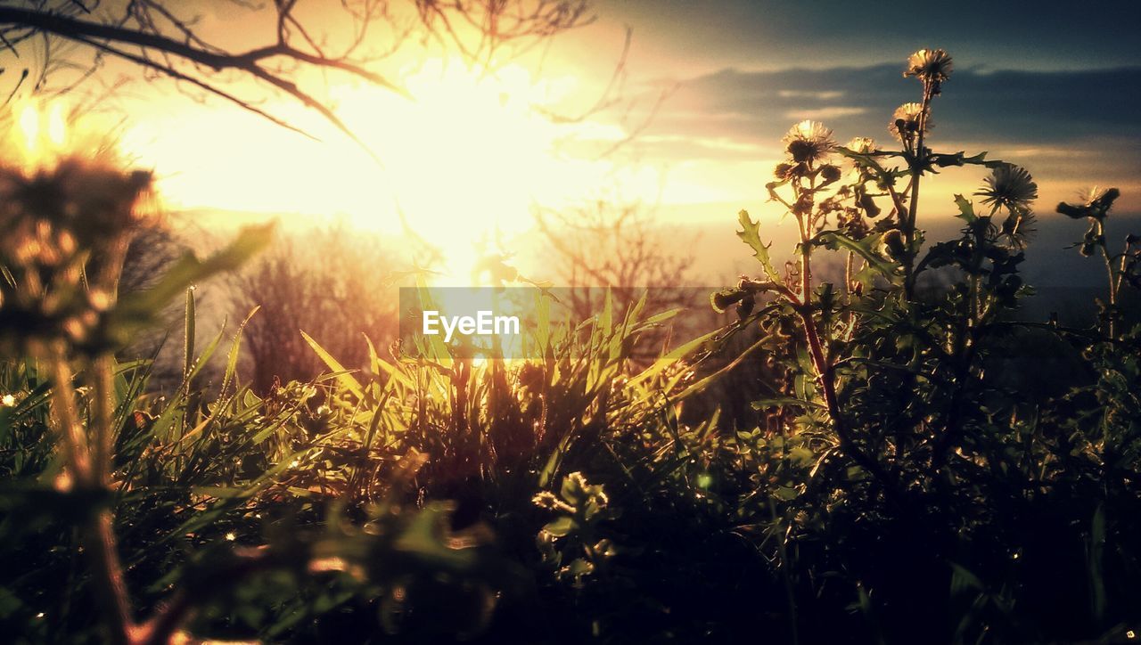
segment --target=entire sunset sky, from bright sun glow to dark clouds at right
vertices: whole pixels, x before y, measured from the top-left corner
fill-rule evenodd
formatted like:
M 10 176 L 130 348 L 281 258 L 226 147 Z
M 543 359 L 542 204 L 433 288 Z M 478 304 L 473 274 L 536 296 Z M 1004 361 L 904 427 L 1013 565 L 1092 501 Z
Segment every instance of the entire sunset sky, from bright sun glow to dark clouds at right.
M 301 6 L 335 41 L 322 3 Z M 218 42 L 241 48 L 269 33 L 264 15 L 233 3 L 180 7 L 201 14 Z M 919 98 L 904 62 L 926 47 L 955 60 L 933 106 L 932 147 L 1025 165 L 1043 220 L 1091 185 L 1120 187 L 1119 210 L 1141 212 L 1141 3 L 600 0 L 596 14 L 492 79 L 439 51 L 394 56 L 387 70 L 414 101 L 321 79 L 380 166 L 280 97 L 262 105 L 322 142 L 162 82 L 128 85 L 123 145 L 184 209 L 339 214 L 385 230 L 400 211 L 421 232 L 475 237 L 526 229 L 536 203 L 608 198 L 730 229 L 741 207 L 778 215 L 763 185 L 793 123 L 822 121 L 840 142 L 889 141 L 895 107 Z M 628 27 L 621 91 L 586 112 L 622 59 Z M 583 119 L 551 122 L 536 105 Z M 947 198 L 932 215 L 949 217 L 952 195 L 984 174 L 933 181 L 930 193 Z

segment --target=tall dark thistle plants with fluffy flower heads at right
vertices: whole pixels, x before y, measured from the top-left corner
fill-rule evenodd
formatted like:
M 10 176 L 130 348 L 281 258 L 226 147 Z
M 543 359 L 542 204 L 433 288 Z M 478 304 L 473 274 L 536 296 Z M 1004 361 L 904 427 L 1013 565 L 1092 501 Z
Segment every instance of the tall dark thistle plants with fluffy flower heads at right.
M 887 642 L 1123 638 L 1139 618 L 1141 435 L 1135 398 L 1117 395 L 1141 376 L 1141 328 L 1123 330 L 1117 292 L 1135 240 L 1119 254 L 1104 245 L 1115 189 L 1059 206 L 1090 219 L 1083 253 L 1106 259 L 1103 324 L 1018 321 L 1037 187 L 985 154 L 926 146 L 949 72 L 940 50 L 913 56 L 905 75 L 921 81 L 922 99 L 896 111 L 900 149 L 863 138 L 837 147 L 810 122 L 790 131 L 788 158 L 767 187 L 800 229 L 799 259 L 783 275 L 742 213 L 738 235 L 762 277 L 713 303 L 743 305 L 743 325 L 768 332 L 760 351 L 784 376 L 754 403 L 779 430 L 738 432 L 731 454 L 762 475 L 752 475 L 750 498 L 760 500 L 755 521 L 771 513 L 762 524 L 777 542 L 768 550 L 786 577 L 788 611 L 832 604 L 836 615 L 850 603 L 863 617 L 859 627 L 798 617 L 793 638 L 850 629 Z M 925 244 L 920 185 L 952 165 L 992 173 L 978 204 L 955 196 L 960 237 Z M 844 256 L 841 284 L 814 279 L 814 258 L 828 251 Z M 948 286 L 921 297 L 929 272 Z

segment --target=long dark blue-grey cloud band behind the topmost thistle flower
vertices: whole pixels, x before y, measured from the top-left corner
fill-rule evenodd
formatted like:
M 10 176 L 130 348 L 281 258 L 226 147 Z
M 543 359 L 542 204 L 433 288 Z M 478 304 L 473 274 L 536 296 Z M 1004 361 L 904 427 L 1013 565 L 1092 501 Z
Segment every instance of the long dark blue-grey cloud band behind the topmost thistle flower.
M 719 116 L 770 137 L 788 123 L 775 115 L 831 115 L 844 129 L 883 136 L 892 109 L 915 100 L 919 83 L 898 65 L 743 72 L 726 68 L 683 81 L 663 109 Z M 957 70 L 936 99 L 934 119 L 947 137 L 1057 142 L 1087 136 L 1141 137 L 1141 67 L 1081 72 Z M 737 120 L 723 117 L 736 116 Z M 718 121 L 712 122 L 717 124 Z M 739 133 L 739 132 L 738 132 Z M 856 132 L 852 132 L 855 134 Z

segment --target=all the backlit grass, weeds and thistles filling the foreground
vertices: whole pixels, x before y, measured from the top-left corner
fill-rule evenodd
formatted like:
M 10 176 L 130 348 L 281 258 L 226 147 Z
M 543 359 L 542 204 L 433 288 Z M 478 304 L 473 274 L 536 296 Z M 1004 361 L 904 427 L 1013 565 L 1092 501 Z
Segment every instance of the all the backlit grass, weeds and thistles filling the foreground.
M 711 296 L 738 320 L 649 362 L 632 360 L 639 338 L 675 312 L 608 297 L 574 328 L 532 329 L 542 359 L 370 342 L 367 369 L 351 370 L 302 336 L 327 374 L 259 393 L 237 374 L 242 328 L 218 383 L 203 366 L 226 333 L 204 348 L 188 333 L 184 382 L 160 398 L 147 361 L 112 352 L 267 232 L 119 300 L 89 254 L 122 247 L 145 178 L 81 162 L 5 171 L 6 634 L 1130 638 L 1141 325 L 1120 296 L 1138 286 L 1136 238 L 1104 239 L 1116 190 L 1060 205 L 1106 262 L 1102 316 L 1084 329 L 1020 320 L 1037 188 L 1020 168 L 929 148 L 950 58 L 921 50 L 908 74 L 922 95 L 896 111 L 899 149 L 837 147 L 810 122 L 790 131 L 767 190 L 798 226 L 795 261 L 774 266 L 742 212 L 758 277 Z M 958 237 L 929 243 L 921 183 L 958 165 L 989 175 L 973 199 L 945 201 Z M 830 255 L 841 281 L 814 272 Z M 946 286 L 919 288 L 928 276 Z M 750 361 L 766 366 L 751 417 L 682 414 Z

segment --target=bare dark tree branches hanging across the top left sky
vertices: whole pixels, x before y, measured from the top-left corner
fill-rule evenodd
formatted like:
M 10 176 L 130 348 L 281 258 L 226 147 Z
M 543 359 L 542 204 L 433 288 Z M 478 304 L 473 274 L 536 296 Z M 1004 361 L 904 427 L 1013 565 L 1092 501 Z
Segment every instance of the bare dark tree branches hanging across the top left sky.
M 315 92 L 313 72 L 338 73 L 407 96 L 399 82 L 379 70 L 379 63 L 408 43 L 435 42 L 471 63 L 493 65 L 591 19 L 588 0 L 342 0 L 319 13 L 323 25 L 311 13 L 301 16 L 297 0 L 274 0 L 272 8 L 242 0 L 230 3 L 249 10 L 251 18 L 270 18 L 273 38 L 243 49 L 219 44 L 202 33 L 201 16 L 163 0 L 30 0 L 0 6 L 0 50 L 22 63 L 32 60 L 24 64 L 8 99 L 25 82 L 33 90 L 43 89 L 48 75 L 62 68 L 80 70 L 83 81 L 114 58 L 301 132 L 261 105 L 264 90 L 288 96 L 357 140 Z M 332 30 L 322 28 L 333 25 L 347 35 L 333 38 Z M 60 51 L 58 40 L 79 48 Z M 22 49 L 37 44 L 40 56 L 21 56 Z M 86 62 L 80 56 L 84 50 L 92 55 Z M 232 82 L 235 77 L 254 83 L 238 87 Z

